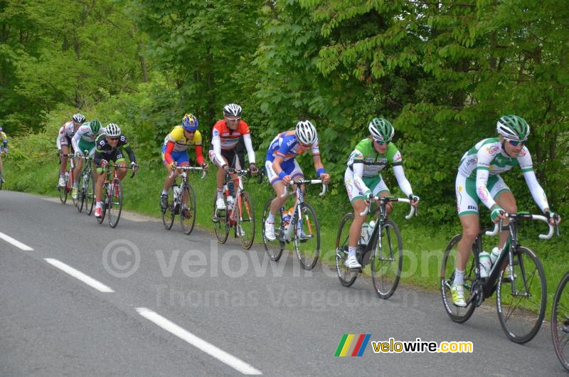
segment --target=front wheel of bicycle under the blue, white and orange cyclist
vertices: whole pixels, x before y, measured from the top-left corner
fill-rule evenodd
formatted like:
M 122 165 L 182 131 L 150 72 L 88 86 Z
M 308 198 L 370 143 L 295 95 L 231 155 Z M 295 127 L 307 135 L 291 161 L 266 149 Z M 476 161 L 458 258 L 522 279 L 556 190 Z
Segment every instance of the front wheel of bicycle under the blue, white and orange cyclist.
M 320 254 L 320 227 L 309 203 L 300 205 L 301 218 L 294 224 L 294 250 L 304 270 L 312 270 Z

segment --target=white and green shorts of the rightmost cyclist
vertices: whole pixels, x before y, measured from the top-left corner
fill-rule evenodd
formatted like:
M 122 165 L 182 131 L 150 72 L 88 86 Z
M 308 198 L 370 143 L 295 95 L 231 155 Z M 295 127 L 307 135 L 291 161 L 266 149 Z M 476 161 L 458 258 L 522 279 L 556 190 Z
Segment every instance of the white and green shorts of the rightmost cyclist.
M 488 191 L 490 191 L 490 195 L 494 200 L 496 200 L 496 197 L 502 191 L 510 191 L 510 188 L 506 185 L 504 179 L 502 179 L 498 174 L 495 176 L 489 176 L 486 188 L 488 188 Z M 458 216 L 478 215 L 480 199 L 478 198 L 476 190 L 476 179 L 467 178 L 460 173 L 457 174 L 455 190 L 457 193 Z

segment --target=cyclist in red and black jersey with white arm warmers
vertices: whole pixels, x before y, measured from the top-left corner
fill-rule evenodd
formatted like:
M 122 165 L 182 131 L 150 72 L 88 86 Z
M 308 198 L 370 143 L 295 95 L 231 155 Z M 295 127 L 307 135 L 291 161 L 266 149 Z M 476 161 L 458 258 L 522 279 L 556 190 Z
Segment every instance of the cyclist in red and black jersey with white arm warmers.
M 241 138 L 243 138 L 245 149 L 247 149 L 249 169 L 252 174 L 256 174 L 257 165 L 255 164 L 255 151 L 251 142 L 249 125 L 241 119 L 241 107 L 235 103 L 230 103 L 223 107 L 223 120 L 218 120 L 213 125 L 209 150 L 211 162 L 218 166 L 216 176 L 218 192 L 216 208 L 218 210 L 225 209 L 225 201 L 223 201 L 225 171 L 230 168 L 243 169 L 242 166 L 245 165 L 243 152 L 240 152 L 238 149 Z M 233 195 L 233 184 L 230 183 L 228 186 Z

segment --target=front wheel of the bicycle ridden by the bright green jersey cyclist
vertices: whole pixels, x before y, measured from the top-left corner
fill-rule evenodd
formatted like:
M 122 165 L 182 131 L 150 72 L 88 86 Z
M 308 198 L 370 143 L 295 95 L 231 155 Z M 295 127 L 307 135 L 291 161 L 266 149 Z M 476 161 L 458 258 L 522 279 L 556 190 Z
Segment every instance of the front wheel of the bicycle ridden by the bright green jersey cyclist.
M 403 269 L 403 239 L 397 224 L 390 220 L 385 221 L 371 242 L 370 268 L 373 289 L 380 298 L 388 299 L 397 289 Z

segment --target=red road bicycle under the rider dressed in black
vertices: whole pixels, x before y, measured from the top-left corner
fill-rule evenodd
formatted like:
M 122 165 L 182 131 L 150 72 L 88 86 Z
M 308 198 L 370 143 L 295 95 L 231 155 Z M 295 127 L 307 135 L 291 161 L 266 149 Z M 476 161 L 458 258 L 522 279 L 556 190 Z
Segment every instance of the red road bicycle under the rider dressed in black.
M 109 168 L 114 168 L 112 170 L 112 178 L 110 177 Z M 105 198 L 102 203 L 101 217 L 97 218 L 97 221 L 102 224 L 102 221 L 105 219 L 105 214 L 108 211 L 109 226 L 111 228 L 117 227 L 122 212 L 122 182 L 119 179 L 117 169 L 132 169 L 132 167 L 107 164 L 102 168 L 102 174 L 106 174 L 105 183 L 102 186 L 102 193 Z M 137 171 L 133 169 L 130 178 L 136 173 Z

